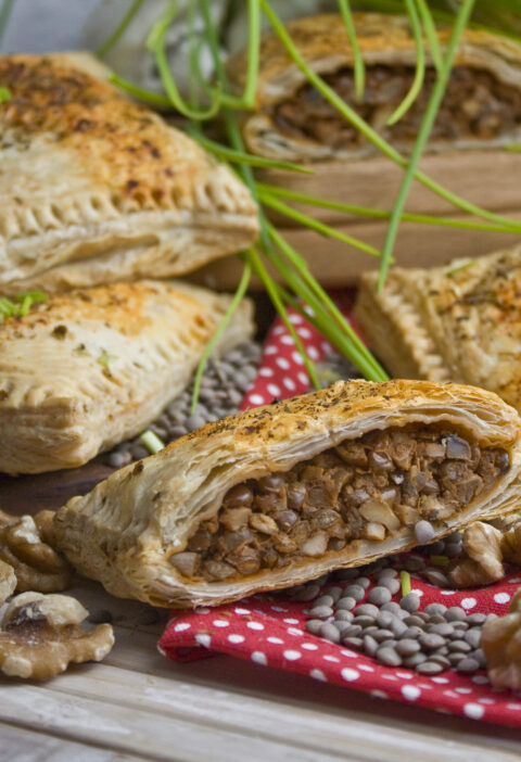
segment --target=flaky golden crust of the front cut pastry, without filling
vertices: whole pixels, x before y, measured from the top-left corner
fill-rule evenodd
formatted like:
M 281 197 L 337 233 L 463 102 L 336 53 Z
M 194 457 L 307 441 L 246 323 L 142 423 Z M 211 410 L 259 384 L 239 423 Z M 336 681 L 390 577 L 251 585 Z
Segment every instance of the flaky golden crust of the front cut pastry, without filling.
M 114 595 L 178 607 L 216 605 L 258 590 L 288 587 L 335 568 L 405 550 L 418 544 L 415 519 L 407 515 L 407 506 L 396 506 L 393 521 L 389 516 L 382 518 L 386 526 L 381 528 L 380 538 L 372 526 L 369 534 L 352 535 L 340 550 L 325 546 L 317 550 L 315 543 L 314 548 L 303 548 L 304 554 L 291 556 L 282 568 L 264 567 L 208 581 L 191 575 L 187 566 L 179 563 L 194 532 L 203 524 L 225 520 L 223 503 L 237 485 L 288 474 L 298 465 L 342 443 L 356 444 L 371 432 L 384 434 L 407 427 L 412 427 L 411 431 L 430 427 L 457 432 L 456 437 L 465 436 L 478 448 L 473 453 L 490 450 L 504 461 L 488 486 L 474 493 L 466 505 L 430 515 L 432 539 L 474 520 L 514 510 L 521 421 L 496 395 L 425 381 L 338 382 L 321 392 L 208 424 L 158 455 L 117 471 L 89 495 L 73 498 L 58 511 L 58 547 L 80 573 L 99 580 Z M 459 440 L 457 446 L 468 447 Z M 374 509 L 374 505 L 365 504 L 365 509 L 369 508 Z M 380 513 L 383 510 L 385 506 L 380 505 Z M 319 516 L 323 519 L 327 512 L 319 511 Z M 386 512 L 392 512 L 389 506 Z M 274 521 L 264 513 L 262 508 L 257 510 L 250 526 L 264 532 L 263 542 L 268 542 Z M 355 520 L 363 513 L 363 508 L 353 509 Z

